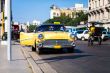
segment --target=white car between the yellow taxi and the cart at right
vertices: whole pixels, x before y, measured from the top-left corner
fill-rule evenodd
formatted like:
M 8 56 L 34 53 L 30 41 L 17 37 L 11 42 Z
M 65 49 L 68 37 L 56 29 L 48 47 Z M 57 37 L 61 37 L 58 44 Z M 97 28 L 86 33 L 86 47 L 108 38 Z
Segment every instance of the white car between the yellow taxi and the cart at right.
M 89 38 L 88 30 L 77 31 L 77 39 L 87 40 Z

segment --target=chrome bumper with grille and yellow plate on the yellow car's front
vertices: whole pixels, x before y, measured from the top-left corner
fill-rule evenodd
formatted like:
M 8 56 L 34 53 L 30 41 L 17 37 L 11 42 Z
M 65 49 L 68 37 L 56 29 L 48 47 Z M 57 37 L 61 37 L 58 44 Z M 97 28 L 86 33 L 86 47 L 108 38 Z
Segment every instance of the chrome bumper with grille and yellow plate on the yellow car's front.
M 68 40 L 46 40 L 37 44 L 37 46 L 39 48 L 61 49 L 61 48 L 73 48 L 76 45 L 73 41 Z

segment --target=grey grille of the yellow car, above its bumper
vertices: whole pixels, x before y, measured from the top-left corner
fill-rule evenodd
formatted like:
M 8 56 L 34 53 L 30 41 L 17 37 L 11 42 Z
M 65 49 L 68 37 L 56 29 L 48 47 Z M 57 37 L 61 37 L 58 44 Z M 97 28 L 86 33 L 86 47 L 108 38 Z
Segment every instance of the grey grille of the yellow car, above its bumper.
M 43 42 L 44 45 L 63 45 L 63 46 L 66 46 L 66 45 L 71 45 L 71 42 L 69 42 L 68 40 L 66 39 L 51 39 L 51 40 L 45 40 Z

